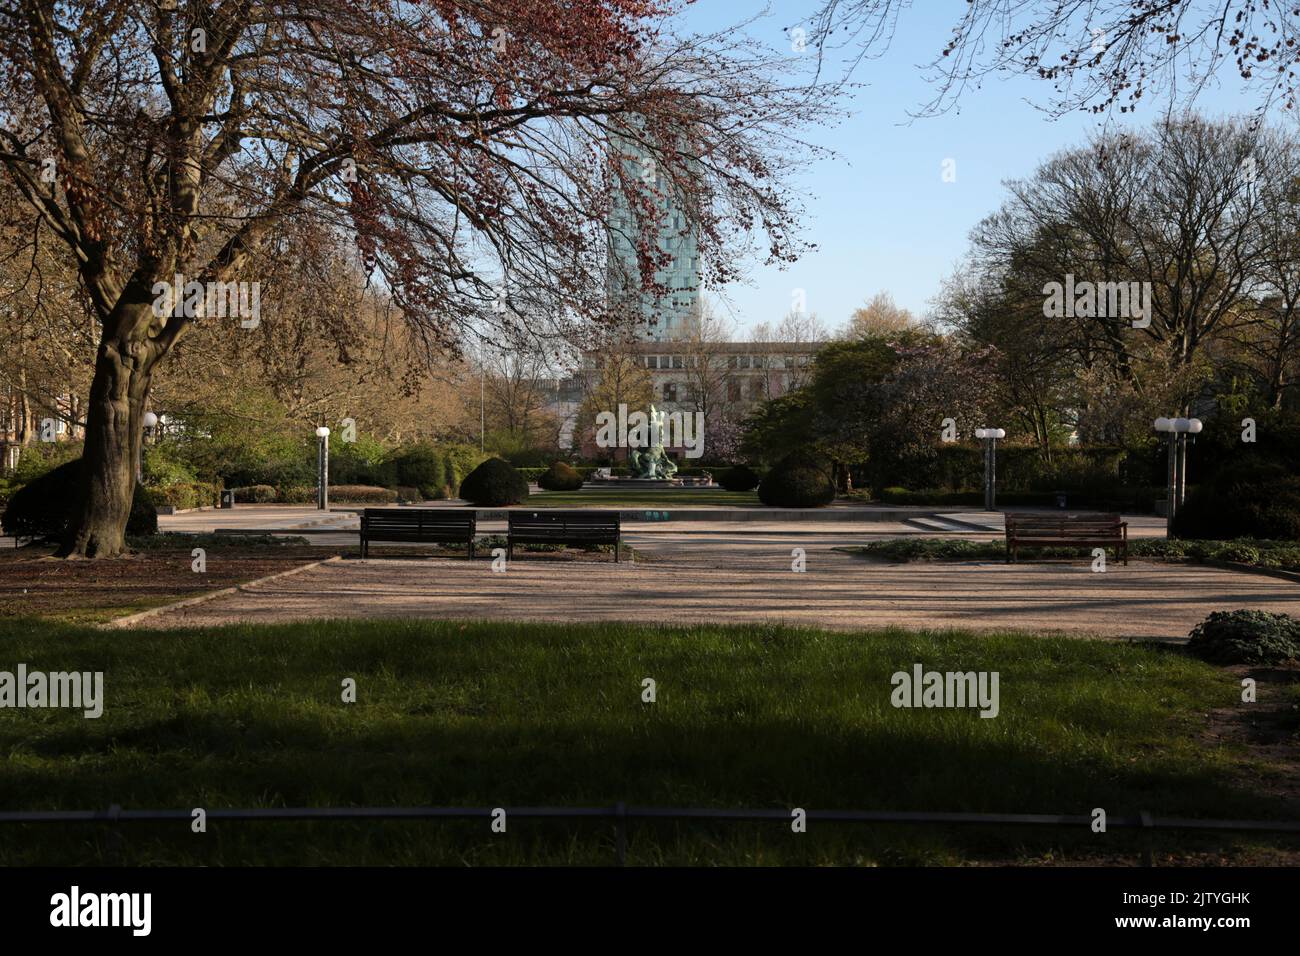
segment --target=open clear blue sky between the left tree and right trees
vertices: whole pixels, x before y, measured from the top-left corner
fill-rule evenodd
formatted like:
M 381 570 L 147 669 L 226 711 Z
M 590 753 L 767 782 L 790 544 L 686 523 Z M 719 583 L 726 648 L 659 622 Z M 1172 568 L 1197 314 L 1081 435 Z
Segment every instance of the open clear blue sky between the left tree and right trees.
M 783 29 L 819 3 L 698 0 L 680 20 L 685 31 L 712 31 L 770 8 L 748 33 L 789 52 Z M 910 120 L 909 111 L 933 94 L 920 66 L 935 57 L 965 7 L 965 0 L 918 0 L 901 18 L 888 55 L 858 68 L 854 79 L 864 86 L 846 99 L 852 114 L 835 127 L 810 127 L 807 139 L 838 153 L 794 182 L 807 208 L 805 237 L 819 250 L 784 271 L 754 263 L 751 285 L 729 286 L 729 313 L 740 329 L 779 321 L 796 287 L 806 290 L 809 311 L 832 328 L 878 291 L 924 313 L 962 259 L 970 229 L 1001 204 L 1002 182 L 1030 174 L 1097 129 L 1093 116 L 1053 120 L 1036 109 L 1052 87 L 1024 77 L 968 91 L 959 112 Z M 1161 105 L 1153 99 L 1131 122 L 1153 122 Z M 1253 105 L 1230 81 L 1199 108 L 1219 116 Z M 942 181 L 945 159 L 956 161 L 956 182 Z

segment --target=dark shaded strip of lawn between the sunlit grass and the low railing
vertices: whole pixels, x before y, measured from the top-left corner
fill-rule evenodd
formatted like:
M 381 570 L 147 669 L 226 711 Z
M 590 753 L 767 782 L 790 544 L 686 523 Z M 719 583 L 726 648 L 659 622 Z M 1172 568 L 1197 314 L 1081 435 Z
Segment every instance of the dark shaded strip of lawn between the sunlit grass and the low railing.
M 472 709 L 471 709 L 472 710 Z M 909 717 L 904 717 L 910 714 Z M 1286 817 L 1214 762 L 1138 748 L 1053 752 L 980 734 L 974 713 L 881 726 L 727 719 L 484 726 L 412 713 L 364 727 L 302 714 L 191 713 L 87 739 L 56 732 L 10 761 L 0 801 L 32 809 L 295 805 L 612 805 Z M 989 723 L 996 723 L 992 721 Z M 965 726 L 963 726 L 965 724 Z M 69 760 L 70 758 L 70 760 Z

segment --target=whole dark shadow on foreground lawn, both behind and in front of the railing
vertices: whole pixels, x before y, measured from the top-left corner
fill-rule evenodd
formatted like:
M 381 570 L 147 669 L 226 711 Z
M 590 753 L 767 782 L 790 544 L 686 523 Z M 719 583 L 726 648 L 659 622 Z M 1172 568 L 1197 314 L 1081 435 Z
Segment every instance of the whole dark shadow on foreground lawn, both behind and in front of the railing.
M 928 715 L 924 715 L 928 717 Z M 949 715 L 952 717 L 952 715 Z M 974 714 L 963 714 L 979 721 Z M 1136 756 L 1062 753 L 994 736 L 927 737 L 889 727 L 816 728 L 802 722 L 718 723 L 621 730 L 589 723 L 486 728 L 390 719 L 338 732 L 307 717 L 185 714 L 88 745 L 56 734 L 10 766 L 0 805 L 68 809 L 194 806 L 710 806 L 1266 818 L 1279 801 L 1245 792 L 1213 766 L 1152 766 Z M 923 722 L 923 719 L 920 721 Z M 72 757 L 68 765 L 62 758 Z M 124 830 L 139 862 L 612 862 L 608 821 L 516 821 L 508 848 L 485 821 L 463 823 L 230 823 L 211 844 L 186 822 Z M 1139 838 L 1098 838 L 1075 827 L 890 827 L 812 825 L 790 844 L 772 823 L 637 822 L 633 861 L 933 864 L 1035 855 L 1136 862 Z M 785 834 L 785 835 L 783 835 Z M 0 860 L 113 862 L 113 843 L 86 827 L 29 829 L 18 844 L 0 831 Z M 211 838 L 205 838 L 211 839 Z M 1161 835 L 1182 852 L 1217 853 L 1227 838 Z M 1265 847 L 1270 835 L 1254 838 Z M 87 843 L 88 840 L 88 843 Z M 1218 840 L 1218 842 L 1216 842 Z M 8 844 L 8 845 L 5 845 Z M 637 856 L 640 855 L 640 856 Z M 755 856 L 757 855 L 757 856 Z

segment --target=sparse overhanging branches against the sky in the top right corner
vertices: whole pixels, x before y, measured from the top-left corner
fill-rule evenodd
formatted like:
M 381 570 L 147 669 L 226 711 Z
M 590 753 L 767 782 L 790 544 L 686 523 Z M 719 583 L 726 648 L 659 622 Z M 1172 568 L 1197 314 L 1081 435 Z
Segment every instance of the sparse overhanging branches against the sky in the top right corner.
M 911 0 L 820 0 L 807 31 L 826 60 L 852 69 L 909 25 Z M 924 4 L 931 7 L 931 4 Z M 1131 112 L 1165 94 L 1190 108 L 1235 73 L 1260 111 L 1296 107 L 1300 7 L 1292 0 L 967 0 L 928 64 L 933 99 L 956 105 L 996 75 L 1049 83 L 1046 108 Z

